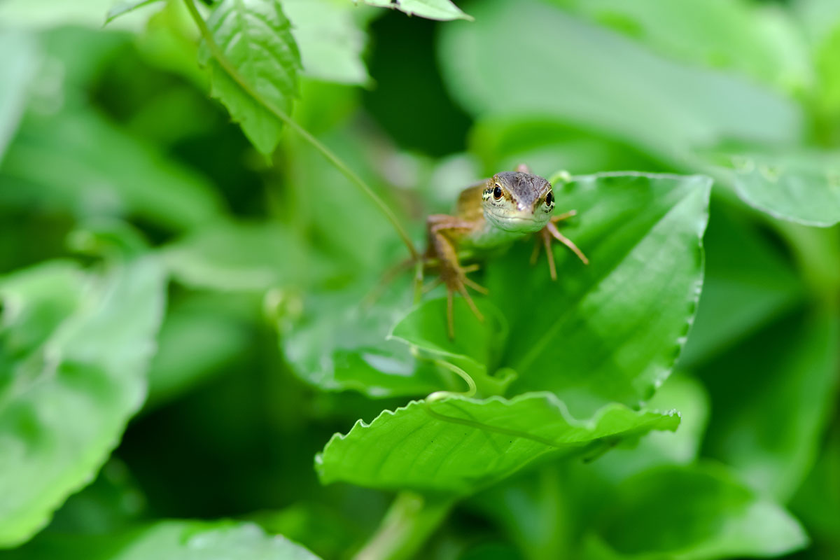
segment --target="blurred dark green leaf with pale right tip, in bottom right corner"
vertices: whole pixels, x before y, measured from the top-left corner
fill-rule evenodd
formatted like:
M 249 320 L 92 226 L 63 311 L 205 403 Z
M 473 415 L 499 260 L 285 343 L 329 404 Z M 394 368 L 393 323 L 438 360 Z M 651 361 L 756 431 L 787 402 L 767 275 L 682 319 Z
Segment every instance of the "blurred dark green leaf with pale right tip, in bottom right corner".
M 591 538 L 587 558 L 774 557 L 808 542 L 787 511 L 712 464 L 656 468 L 628 479 L 599 532 L 603 542 Z

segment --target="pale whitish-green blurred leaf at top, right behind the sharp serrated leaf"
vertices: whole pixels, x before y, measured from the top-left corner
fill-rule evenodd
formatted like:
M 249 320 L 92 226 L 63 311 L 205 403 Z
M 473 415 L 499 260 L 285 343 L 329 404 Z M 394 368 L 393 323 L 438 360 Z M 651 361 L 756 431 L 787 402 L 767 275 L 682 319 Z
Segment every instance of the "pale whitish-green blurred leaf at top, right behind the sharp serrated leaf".
M 304 76 L 343 84 L 370 81 L 361 59 L 365 32 L 346 0 L 283 0 L 283 9 L 294 23 L 291 34 L 301 50 Z

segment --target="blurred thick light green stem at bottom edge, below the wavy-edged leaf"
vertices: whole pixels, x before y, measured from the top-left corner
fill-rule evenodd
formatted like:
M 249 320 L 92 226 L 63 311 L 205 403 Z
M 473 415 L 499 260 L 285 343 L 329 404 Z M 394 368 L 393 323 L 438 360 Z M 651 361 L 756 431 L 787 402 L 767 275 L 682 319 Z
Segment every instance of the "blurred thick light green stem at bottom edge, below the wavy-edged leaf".
M 354 560 L 402 560 L 415 556 L 454 505 L 452 497 L 403 491 L 396 495 L 379 529 Z

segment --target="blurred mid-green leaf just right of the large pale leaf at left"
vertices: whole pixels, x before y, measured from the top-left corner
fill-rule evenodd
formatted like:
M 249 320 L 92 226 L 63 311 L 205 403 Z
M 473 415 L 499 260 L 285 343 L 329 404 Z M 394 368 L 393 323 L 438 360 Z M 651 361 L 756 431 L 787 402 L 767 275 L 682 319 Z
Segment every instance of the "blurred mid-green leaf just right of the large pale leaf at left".
M 210 292 L 170 306 L 149 369 L 145 410 L 181 395 L 242 356 L 253 343 L 249 321 L 255 321 L 258 311 L 244 303 L 233 294 Z

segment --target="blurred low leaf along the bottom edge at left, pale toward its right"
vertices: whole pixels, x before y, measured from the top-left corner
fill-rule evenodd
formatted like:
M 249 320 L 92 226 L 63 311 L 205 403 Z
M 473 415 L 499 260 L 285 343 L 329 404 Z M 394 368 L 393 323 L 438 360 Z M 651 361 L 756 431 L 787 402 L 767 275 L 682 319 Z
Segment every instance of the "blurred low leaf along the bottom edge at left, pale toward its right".
M 45 535 L 0 557 L 3 560 L 318 560 L 312 552 L 283 536 L 268 536 L 252 523 L 234 521 L 160 521 L 111 535 Z

